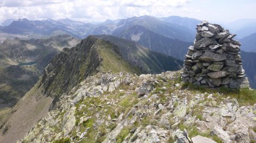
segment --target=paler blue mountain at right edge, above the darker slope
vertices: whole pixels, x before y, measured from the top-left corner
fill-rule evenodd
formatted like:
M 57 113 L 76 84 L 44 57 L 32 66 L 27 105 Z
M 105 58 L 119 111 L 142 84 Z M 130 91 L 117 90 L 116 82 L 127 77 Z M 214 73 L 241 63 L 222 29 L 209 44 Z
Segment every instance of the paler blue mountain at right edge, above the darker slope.
M 246 36 L 240 40 L 243 51 L 256 52 L 256 33 Z

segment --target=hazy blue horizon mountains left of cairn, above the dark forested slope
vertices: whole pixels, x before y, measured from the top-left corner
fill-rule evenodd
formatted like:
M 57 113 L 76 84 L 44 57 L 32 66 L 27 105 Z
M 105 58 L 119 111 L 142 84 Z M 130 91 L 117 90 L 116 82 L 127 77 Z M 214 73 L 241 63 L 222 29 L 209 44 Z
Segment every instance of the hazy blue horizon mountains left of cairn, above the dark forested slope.
M 192 42 L 195 37 L 194 30 L 186 25 L 167 23 L 152 16 L 140 16 L 128 19 L 106 20 L 101 24 L 83 23 L 71 19 L 46 19 L 28 20 L 19 19 L 10 25 L 0 28 L 0 33 L 19 34 L 27 37 L 55 36 L 58 34 L 70 34 L 75 37 L 84 38 L 95 34 L 110 34 L 118 36 L 131 27 L 143 27 L 161 36 Z

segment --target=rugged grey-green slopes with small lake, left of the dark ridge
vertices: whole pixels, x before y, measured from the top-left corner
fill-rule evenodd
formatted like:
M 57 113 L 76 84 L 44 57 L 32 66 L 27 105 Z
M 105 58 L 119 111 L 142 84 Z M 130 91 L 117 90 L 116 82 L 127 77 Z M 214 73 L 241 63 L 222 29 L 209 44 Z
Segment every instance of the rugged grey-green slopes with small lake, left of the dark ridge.
M 79 41 L 69 35 L 5 40 L 0 45 L 0 109 L 13 107 L 38 82 L 51 58 Z

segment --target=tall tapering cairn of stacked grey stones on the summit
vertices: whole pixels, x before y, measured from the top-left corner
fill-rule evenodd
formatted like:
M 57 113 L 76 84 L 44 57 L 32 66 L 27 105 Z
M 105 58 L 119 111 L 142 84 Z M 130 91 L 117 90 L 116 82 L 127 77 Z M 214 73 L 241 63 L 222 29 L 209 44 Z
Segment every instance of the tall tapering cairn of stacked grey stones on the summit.
M 247 87 L 240 56 L 241 44 L 232 39 L 236 34 L 207 21 L 197 24 L 196 30 L 194 45 L 188 47 L 185 55 L 183 81 L 210 88 Z

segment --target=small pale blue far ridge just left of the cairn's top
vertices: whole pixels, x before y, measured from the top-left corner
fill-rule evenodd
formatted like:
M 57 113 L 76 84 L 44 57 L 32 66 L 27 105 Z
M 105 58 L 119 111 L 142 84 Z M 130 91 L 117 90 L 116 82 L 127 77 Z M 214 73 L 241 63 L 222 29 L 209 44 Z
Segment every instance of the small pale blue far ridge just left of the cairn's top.
M 159 18 L 167 23 L 177 24 L 180 26 L 187 27 L 193 32 L 196 32 L 196 24 L 199 24 L 201 20 L 193 19 L 193 18 L 186 18 L 180 16 L 169 16 L 167 18 Z

